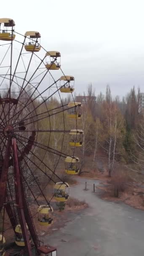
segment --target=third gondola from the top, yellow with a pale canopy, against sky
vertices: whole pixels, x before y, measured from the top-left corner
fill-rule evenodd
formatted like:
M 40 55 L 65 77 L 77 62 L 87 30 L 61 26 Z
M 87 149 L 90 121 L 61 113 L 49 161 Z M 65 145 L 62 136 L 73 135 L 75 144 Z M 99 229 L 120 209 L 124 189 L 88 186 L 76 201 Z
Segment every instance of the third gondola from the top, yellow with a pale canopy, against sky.
M 45 54 L 45 59 L 46 59 L 46 64 L 45 67 L 46 69 L 50 70 L 58 70 L 61 67 L 61 53 L 59 51 L 48 51 Z M 49 57 L 49 61 L 48 61 Z M 57 62 L 57 58 L 59 59 L 59 62 Z

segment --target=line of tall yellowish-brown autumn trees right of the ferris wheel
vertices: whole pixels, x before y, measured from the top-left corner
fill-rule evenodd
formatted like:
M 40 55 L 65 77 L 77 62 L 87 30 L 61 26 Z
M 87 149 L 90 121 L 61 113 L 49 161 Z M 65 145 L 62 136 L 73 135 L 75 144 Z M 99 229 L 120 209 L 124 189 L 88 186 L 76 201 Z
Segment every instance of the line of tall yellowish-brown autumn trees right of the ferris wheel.
M 92 156 L 91 169 L 101 150 L 107 156 L 109 176 L 115 171 L 115 163 L 136 163 L 137 171 L 143 168 L 143 114 L 138 112 L 140 89 L 135 87 L 120 99 L 112 97 L 107 85 L 105 95 L 96 91 L 92 84 L 83 93 L 81 128 L 84 131 L 81 150 L 82 166 L 86 156 Z M 87 97 L 85 97 L 87 96 Z M 141 162 L 141 165 L 140 165 Z

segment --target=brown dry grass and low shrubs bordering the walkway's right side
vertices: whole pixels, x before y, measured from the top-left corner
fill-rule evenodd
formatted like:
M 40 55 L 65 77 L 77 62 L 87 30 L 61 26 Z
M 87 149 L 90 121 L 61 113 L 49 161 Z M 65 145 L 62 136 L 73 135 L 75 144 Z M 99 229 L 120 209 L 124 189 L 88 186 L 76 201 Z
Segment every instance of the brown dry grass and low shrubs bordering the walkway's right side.
M 91 160 L 90 157 L 89 160 Z M 144 195 L 141 195 L 144 194 L 144 188 L 141 187 L 144 185 L 144 175 L 132 171 L 131 168 L 135 169 L 135 166 L 115 163 L 115 170 L 110 178 L 106 160 L 103 160 L 103 165 L 104 173 L 100 173 L 95 165 L 93 170 L 87 169 L 88 173 L 82 173 L 80 177 L 102 181 L 102 184 L 106 186 L 97 187 L 103 192 L 102 199 L 124 202 L 134 208 L 144 210 Z

